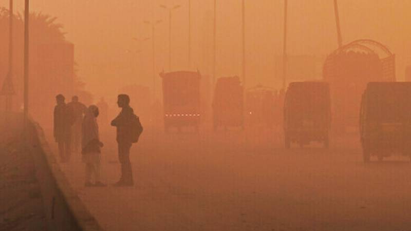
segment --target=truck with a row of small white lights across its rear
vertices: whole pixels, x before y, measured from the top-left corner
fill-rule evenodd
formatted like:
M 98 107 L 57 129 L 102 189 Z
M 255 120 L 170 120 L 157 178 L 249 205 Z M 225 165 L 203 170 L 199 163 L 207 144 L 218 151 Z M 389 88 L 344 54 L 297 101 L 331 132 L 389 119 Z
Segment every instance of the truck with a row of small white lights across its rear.
M 164 130 L 173 127 L 181 131 L 183 127 L 194 127 L 199 131 L 200 81 L 198 71 L 174 71 L 160 73 L 163 86 Z

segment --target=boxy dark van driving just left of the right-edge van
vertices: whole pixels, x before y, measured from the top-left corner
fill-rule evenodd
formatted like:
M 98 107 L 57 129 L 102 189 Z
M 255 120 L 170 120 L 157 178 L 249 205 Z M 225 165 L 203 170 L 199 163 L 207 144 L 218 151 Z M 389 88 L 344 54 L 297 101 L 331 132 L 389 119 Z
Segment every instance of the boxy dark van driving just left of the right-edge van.
M 330 91 L 324 82 L 294 82 L 288 86 L 284 101 L 285 146 L 301 147 L 312 141 L 329 146 L 331 123 Z

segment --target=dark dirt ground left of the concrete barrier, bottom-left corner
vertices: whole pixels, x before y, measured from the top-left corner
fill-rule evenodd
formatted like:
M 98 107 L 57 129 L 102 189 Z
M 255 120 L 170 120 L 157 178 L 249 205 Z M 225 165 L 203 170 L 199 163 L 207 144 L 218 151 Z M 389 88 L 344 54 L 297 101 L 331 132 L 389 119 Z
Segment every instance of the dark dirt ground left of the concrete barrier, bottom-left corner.
M 30 152 L 21 142 L 0 142 L 0 231 L 46 230 Z

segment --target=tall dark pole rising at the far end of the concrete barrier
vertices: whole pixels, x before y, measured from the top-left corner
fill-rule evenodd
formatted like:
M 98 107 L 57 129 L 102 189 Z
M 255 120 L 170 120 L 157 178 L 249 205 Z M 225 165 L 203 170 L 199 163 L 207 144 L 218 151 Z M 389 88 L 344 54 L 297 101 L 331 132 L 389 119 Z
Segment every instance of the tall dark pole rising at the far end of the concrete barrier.
M 24 129 L 27 134 L 29 114 L 29 17 L 30 3 L 25 0 L 24 4 Z

